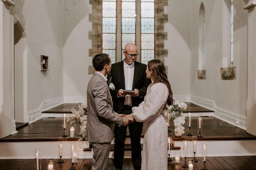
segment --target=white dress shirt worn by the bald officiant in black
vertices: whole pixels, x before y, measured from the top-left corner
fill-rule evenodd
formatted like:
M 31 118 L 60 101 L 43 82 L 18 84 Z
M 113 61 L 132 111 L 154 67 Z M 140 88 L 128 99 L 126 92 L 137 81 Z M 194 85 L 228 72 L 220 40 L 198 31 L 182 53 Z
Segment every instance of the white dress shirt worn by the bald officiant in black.
M 124 74 L 125 74 L 125 90 L 132 90 L 133 75 L 134 75 L 134 63 L 128 65 L 124 61 Z M 125 105 L 132 106 L 131 96 L 125 96 Z

